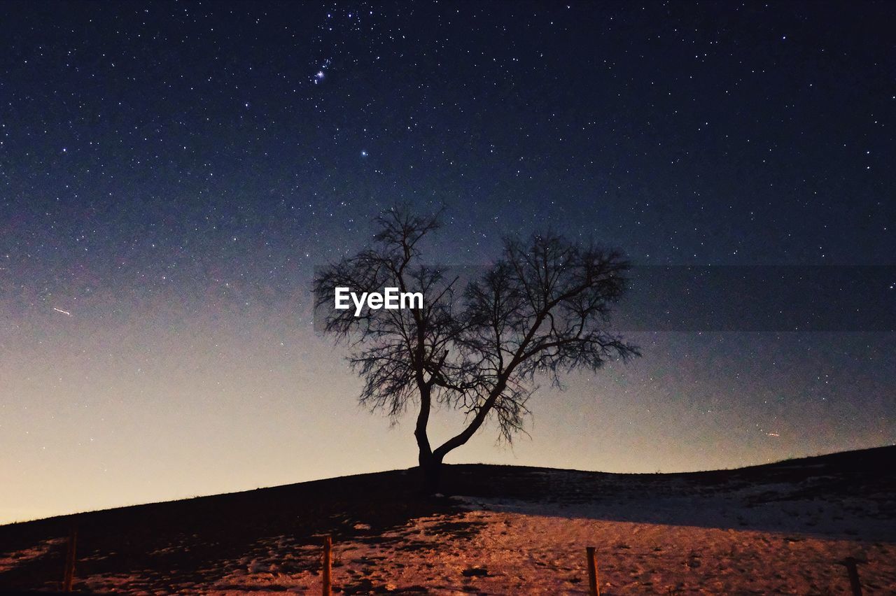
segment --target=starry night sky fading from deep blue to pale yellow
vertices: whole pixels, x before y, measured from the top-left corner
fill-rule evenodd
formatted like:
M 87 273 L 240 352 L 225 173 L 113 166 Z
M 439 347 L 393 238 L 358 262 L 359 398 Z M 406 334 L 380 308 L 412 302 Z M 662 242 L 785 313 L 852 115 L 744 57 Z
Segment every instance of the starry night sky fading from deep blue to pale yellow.
M 0 521 L 416 462 L 314 267 L 444 205 L 637 265 L 892 265 L 896 4 L 0 4 Z M 891 297 L 892 300 L 892 297 Z M 696 470 L 896 441 L 892 333 L 650 332 L 449 461 Z M 458 422 L 440 413 L 447 433 Z

